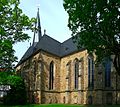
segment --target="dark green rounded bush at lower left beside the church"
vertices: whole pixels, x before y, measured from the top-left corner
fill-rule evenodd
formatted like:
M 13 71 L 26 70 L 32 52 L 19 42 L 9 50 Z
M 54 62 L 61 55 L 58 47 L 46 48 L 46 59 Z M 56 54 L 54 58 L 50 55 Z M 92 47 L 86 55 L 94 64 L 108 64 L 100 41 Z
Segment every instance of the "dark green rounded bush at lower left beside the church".
M 10 85 L 10 90 L 4 96 L 5 105 L 22 105 L 26 104 L 26 88 L 21 77 L 11 74 L 10 72 L 0 72 L 0 85 Z

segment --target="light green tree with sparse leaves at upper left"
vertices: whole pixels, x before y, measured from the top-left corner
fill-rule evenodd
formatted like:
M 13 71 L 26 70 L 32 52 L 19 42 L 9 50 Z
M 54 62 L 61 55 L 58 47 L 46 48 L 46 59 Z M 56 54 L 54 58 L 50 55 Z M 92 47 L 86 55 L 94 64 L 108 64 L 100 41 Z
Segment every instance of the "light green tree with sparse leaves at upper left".
M 20 0 L 0 0 L 0 68 L 5 71 L 10 71 L 17 60 L 13 44 L 28 40 L 24 31 L 33 30 L 36 21 L 23 14 L 19 4 Z

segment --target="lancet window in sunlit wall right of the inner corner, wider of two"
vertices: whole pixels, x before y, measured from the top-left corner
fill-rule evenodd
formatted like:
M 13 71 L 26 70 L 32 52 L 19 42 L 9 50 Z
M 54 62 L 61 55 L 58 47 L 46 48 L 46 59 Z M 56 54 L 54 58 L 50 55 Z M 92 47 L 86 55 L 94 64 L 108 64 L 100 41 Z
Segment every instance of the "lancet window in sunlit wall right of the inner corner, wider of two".
M 74 70 L 75 70 L 75 89 L 78 89 L 78 74 L 79 74 L 79 61 L 78 61 L 78 59 L 75 59 Z

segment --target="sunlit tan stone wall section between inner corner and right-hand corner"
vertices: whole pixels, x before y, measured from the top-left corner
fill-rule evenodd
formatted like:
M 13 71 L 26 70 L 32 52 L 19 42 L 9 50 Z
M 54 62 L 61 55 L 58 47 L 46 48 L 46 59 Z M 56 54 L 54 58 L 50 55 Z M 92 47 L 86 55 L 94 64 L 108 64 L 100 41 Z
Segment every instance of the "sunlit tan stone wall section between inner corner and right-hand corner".
M 78 52 L 72 55 L 68 55 L 66 57 L 63 57 L 61 59 L 61 69 L 60 69 L 60 91 L 61 93 L 61 103 L 79 103 L 83 104 L 84 103 L 84 92 L 86 91 L 87 88 L 87 51 L 84 50 L 82 52 Z M 80 80 L 79 80 L 79 85 L 80 89 L 76 90 L 74 87 L 74 61 L 76 59 L 78 60 L 83 60 L 83 67 L 82 67 L 82 73 L 80 75 Z M 67 75 L 67 69 L 66 65 L 70 64 L 70 82 L 69 82 L 69 90 L 66 90 L 66 75 Z M 83 92 L 84 91 L 84 92 Z M 65 100 L 65 101 L 64 101 Z

